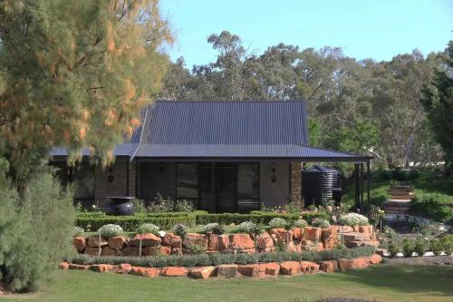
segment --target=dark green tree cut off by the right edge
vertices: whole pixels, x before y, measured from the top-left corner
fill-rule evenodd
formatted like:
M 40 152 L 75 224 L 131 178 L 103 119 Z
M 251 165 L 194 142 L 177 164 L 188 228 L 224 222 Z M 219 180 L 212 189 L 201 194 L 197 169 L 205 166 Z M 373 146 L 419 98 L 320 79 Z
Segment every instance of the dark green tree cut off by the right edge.
M 453 41 L 445 53 L 443 68 L 436 71 L 432 84 L 425 86 L 421 103 L 445 151 L 446 167 L 453 175 Z

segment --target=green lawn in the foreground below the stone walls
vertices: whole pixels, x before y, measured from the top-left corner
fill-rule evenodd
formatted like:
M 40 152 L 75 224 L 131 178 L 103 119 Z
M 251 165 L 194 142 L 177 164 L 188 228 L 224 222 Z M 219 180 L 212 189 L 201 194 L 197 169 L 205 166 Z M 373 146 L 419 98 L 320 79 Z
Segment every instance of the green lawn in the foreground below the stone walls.
M 377 301 L 451 301 L 453 268 L 383 265 L 343 273 L 291 278 L 140 278 L 89 271 L 59 271 L 36 294 L 1 301 L 314 301 L 363 297 Z

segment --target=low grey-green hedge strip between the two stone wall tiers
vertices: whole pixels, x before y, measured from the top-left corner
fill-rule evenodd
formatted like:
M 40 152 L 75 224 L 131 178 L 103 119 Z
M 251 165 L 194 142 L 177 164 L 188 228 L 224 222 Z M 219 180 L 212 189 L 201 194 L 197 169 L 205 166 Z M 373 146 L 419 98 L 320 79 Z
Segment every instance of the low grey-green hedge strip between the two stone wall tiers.
M 374 247 L 365 246 L 360 248 L 334 248 L 322 251 L 304 251 L 296 252 L 274 252 L 251 254 L 197 254 L 187 256 L 154 256 L 154 257 L 90 257 L 87 255 L 78 255 L 69 262 L 82 265 L 93 264 L 112 264 L 129 263 L 132 266 L 145 268 L 162 268 L 162 267 L 202 267 L 217 266 L 220 264 L 255 264 L 265 262 L 283 262 L 283 261 L 326 261 L 340 258 L 358 258 L 371 256 L 375 251 Z

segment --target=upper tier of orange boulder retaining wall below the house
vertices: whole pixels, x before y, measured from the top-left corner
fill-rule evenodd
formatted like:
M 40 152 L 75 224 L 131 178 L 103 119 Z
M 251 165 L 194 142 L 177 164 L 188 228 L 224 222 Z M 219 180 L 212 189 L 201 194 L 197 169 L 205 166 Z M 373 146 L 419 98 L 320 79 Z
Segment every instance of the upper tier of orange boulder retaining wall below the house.
M 74 248 L 79 253 L 90 256 L 188 255 L 194 252 L 194 248 L 202 249 L 206 253 L 254 254 L 272 252 L 276 249 L 302 252 L 304 250 L 332 249 L 339 244 L 344 244 L 348 248 L 363 245 L 378 246 L 371 226 L 270 229 L 255 238 L 248 234 L 188 233 L 184 239 L 181 239 L 169 232 L 160 237 L 154 234 L 138 234 L 133 238 L 117 236 L 100 240 L 95 235 L 73 239 Z

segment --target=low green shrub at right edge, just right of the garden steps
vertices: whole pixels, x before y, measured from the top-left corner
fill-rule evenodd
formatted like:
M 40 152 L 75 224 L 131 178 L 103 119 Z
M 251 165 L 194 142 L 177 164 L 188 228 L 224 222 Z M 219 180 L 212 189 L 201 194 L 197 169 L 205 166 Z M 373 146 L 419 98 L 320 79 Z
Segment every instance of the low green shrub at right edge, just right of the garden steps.
M 444 222 L 453 218 L 448 205 L 431 197 L 414 198 L 410 204 L 410 214 Z

